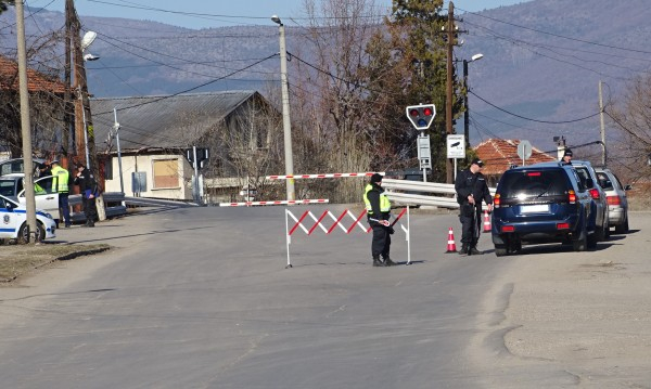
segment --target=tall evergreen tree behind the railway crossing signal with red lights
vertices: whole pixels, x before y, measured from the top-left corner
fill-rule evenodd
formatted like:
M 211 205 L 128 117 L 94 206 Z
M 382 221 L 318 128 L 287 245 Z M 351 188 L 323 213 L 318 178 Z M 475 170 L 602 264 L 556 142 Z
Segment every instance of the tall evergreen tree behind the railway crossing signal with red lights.
M 399 134 L 395 134 L 394 141 L 404 142 L 394 144 L 397 150 L 410 151 L 416 155 L 414 131 L 405 115 L 407 105 L 420 103 L 433 103 L 436 106 L 436 117 L 427 131 L 432 148 L 433 179 L 445 181 L 446 164 L 446 129 L 445 129 L 445 103 L 446 103 L 446 61 L 447 61 L 447 35 L 445 34 L 447 14 L 442 14 L 443 0 L 394 0 L 392 14 L 385 18 L 387 34 L 376 36 L 370 41 L 367 52 L 375 56 L 384 55 L 387 60 L 387 69 L 394 75 L 401 77 L 394 80 L 400 88 L 400 95 L 393 95 L 393 106 L 397 109 L 394 131 L 399 128 Z M 457 37 L 449 37 L 457 39 Z M 386 53 L 392 53 L 386 56 Z M 373 60 L 371 61 L 371 64 Z M 454 90 L 458 90 L 457 77 Z M 395 88 L 386 88 L 382 85 L 373 85 L 371 89 L 382 88 L 392 92 L 398 92 Z M 462 99 L 455 99 L 452 112 L 455 118 L 462 109 Z M 391 106 L 392 104 L 387 104 Z M 414 159 L 411 159 L 411 166 Z M 418 164 L 418 161 L 416 161 Z

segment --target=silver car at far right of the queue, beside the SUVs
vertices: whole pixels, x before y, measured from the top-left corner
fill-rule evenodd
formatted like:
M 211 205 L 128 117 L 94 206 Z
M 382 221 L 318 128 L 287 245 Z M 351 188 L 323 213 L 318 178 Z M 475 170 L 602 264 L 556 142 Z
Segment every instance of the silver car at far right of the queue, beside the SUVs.
M 608 168 L 595 169 L 599 184 L 605 192 L 608 200 L 608 212 L 610 216 L 610 226 L 615 228 L 616 233 L 628 232 L 628 199 L 626 191 L 630 185 L 622 185 L 620 179 Z

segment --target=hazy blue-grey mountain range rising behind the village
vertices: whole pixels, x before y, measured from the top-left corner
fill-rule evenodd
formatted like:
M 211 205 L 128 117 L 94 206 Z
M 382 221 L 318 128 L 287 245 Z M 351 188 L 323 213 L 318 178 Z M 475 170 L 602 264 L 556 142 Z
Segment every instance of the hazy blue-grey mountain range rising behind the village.
M 28 9 L 28 38 L 63 29 L 60 12 Z M 651 61 L 651 8 L 647 0 L 533 0 L 468 13 L 456 9 L 468 65 L 470 137 L 527 139 L 540 150 L 600 140 L 599 83 L 607 109 Z M 87 63 L 95 96 L 133 96 L 266 90 L 279 82 L 278 27 L 187 29 L 151 21 L 80 16 L 84 30 L 98 33 L 88 49 L 100 61 Z M 4 52 L 15 48 L 13 12 L 0 16 Z M 288 51 L 299 27 L 286 27 Z M 29 39 L 28 39 L 29 40 Z M 296 49 L 297 50 L 297 49 Z M 289 76 L 291 78 L 292 64 Z M 458 73 L 461 74 L 459 67 Z M 457 132 L 462 132 L 458 120 Z M 610 126 L 610 127 L 609 127 Z M 607 139 L 617 137 L 607 120 Z M 586 154 L 600 146 L 586 146 Z M 579 153 L 580 155 L 580 153 Z

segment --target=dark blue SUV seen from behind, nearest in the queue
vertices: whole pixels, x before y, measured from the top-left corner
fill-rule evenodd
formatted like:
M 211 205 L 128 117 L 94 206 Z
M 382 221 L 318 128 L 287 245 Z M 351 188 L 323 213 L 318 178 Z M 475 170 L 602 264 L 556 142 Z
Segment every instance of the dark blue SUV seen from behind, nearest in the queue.
M 589 179 L 588 179 L 589 180 Z M 493 210 L 493 243 L 500 257 L 523 244 L 571 242 L 588 248 L 591 197 L 574 167 L 561 163 L 523 166 L 505 171 Z

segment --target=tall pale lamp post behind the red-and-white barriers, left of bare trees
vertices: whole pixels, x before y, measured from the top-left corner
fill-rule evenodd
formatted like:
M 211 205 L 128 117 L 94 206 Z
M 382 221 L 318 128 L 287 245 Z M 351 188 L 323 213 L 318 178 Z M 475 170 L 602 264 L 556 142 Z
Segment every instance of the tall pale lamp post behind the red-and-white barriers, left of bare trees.
M 280 83 L 282 90 L 282 129 L 284 134 L 285 174 L 294 174 L 294 160 L 292 155 L 292 122 L 290 120 L 290 89 L 288 87 L 288 49 L 285 46 L 284 25 L 278 15 L 271 16 L 278 24 L 280 33 Z M 295 199 L 294 179 L 286 180 L 288 200 Z

